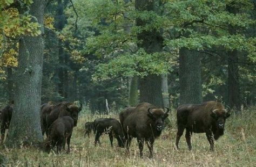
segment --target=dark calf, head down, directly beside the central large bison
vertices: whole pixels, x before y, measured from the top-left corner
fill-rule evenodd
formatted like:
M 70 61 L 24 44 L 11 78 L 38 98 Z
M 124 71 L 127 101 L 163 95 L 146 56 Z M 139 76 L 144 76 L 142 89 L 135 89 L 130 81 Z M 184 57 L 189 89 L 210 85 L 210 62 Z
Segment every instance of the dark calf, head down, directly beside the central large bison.
M 102 133 L 108 133 L 110 144 L 113 147 L 113 137 L 118 141 L 119 147 L 124 147 L 124 135 L 120 122 L 113 118 L 100 118 L 94 121 L 96 127 L 95 145 L 99 143 Z

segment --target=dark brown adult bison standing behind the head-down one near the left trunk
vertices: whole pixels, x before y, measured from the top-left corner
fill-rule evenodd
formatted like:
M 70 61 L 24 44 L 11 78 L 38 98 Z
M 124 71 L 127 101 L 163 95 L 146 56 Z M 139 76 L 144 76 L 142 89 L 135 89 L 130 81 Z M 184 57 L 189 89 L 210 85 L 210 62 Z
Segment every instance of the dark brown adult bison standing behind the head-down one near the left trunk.
M 82 104 L 79 102 L 78 107 L 74 103 L 63 101 L 56 105 L 43 104 L 41 106 L 41 128 L 42 134 L 46 132 L 46 136 L 49 134 L 48 129 L 51 124 L 59 117 L 70 116 L 74 120 L 74 126 L 77 125 L 78 114 L 82 110 Z

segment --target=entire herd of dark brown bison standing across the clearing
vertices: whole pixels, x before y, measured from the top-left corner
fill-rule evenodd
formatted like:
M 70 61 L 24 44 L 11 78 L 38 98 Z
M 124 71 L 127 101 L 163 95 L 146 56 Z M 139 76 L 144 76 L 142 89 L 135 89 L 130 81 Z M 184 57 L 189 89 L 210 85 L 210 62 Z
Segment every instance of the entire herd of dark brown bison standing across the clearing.
M 5 129 L 8 129 L 14 108 L 13 101 L 0 111 L 1 143 L 5 136 Z M 165 110 L 166 109 L 166 110 Z M 46 134 L 44 149 L 50 152 L 57 148 L 57 153 L 65 150 L 66 144 L 70 152 L 70 141 L 73 127 L 77 125 L 79 112 L 82 104 L 68 103 L 63 101 L 56 105 L 51 103 L 41 106 L 41 128 L 42 134 Z M 158 108 L 149 103 L 141 103 L 136 107 L 126 107 L 119 114 L 119 119 L 101 118 L 93 122 L 86 122 L 85 136 L 95 133 L 95 145 L 100 144 L 99 138 L 103 133 L 109 134 L 110 144 L 113 147 L 113 139 L 117 139 L 119 147 L 125 147 L 129 153 L 129 147 L 133 137 L 137 139 L 140 157 L 143 156 L 144 142 L 150 151 L 150 158 L 153 157 L 154 140 L 160 136 L 164 121 L 168 117 L 169 108 Z M 192 133 L 205 133 L 210 150 L 214 150 L 214 140 L 224 134 L 226 118 L 230 112 L 225 110 L 223 104 L 217 101 L 206 101 L 203 104 L 184 104 L 177 109 L 177 149 L 180 137 L 186 129 L 186 142 L 191 150 Z

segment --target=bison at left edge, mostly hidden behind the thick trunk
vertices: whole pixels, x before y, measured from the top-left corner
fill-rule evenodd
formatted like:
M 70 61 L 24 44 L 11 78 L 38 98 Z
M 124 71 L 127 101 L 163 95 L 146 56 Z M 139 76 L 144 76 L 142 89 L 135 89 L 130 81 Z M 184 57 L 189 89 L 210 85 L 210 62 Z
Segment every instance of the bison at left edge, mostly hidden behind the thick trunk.
M 14 110 L 14 103 L 4 107 L 1 112 L 0 129 L 1 129 L 1 143 L 4 141 L 5 129 L 9 128 L 11 122 L 12 111 Z

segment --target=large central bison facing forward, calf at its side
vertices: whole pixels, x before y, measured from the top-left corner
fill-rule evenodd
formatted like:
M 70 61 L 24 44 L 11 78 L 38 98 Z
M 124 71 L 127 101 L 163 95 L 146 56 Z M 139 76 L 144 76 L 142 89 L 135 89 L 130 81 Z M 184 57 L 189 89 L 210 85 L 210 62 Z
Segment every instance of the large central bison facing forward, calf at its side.
M 150 158 L 153 157 L 154 140 L 160 136 L 164 127 L 164 120 L 168 117 L 169 108 L 164 112 L 149 103 L 141 103 L 136 107 L 129 107 L 120 113 L 120 120 L 125 134 L 126 148 L 129 152 L 132 137 L 137 138 L 140 157 L 143 156 L 144 140 L 150 151 Z

